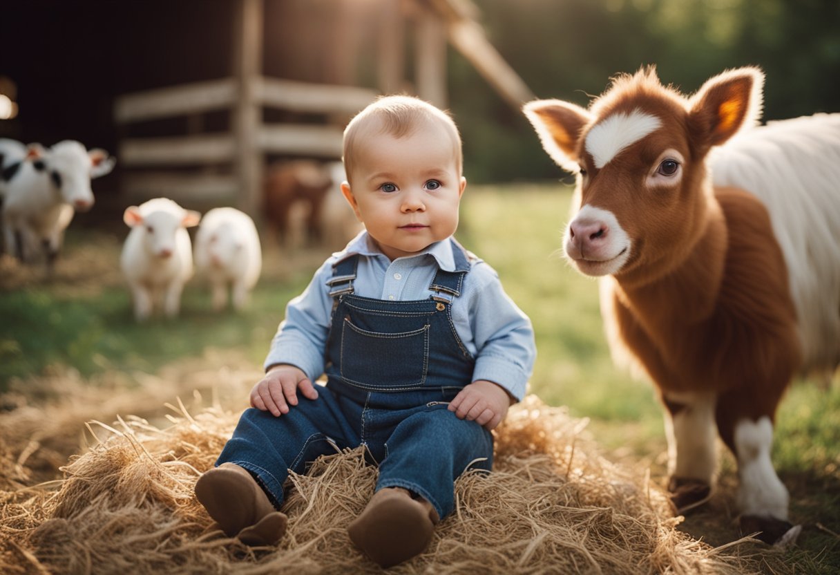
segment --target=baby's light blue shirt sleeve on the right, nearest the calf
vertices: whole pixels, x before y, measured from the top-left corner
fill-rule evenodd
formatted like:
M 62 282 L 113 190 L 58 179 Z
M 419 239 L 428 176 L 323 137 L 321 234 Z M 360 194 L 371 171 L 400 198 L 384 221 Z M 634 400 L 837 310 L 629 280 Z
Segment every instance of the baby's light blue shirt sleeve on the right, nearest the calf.
M 505 293 L 491 266 L 478 262 L 468 277 L 476 282 L 469 294 L 477 350 L 473 381 L 494 382 L 521 401 L 537 358 L 531 320 Z

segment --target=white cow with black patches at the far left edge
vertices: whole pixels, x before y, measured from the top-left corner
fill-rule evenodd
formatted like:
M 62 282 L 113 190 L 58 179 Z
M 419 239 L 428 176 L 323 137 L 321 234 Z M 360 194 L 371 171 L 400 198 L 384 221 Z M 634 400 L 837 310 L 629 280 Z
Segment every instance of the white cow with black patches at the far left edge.
M 93 206 L 91 179 L 113 169 L 115 160 L 105 150 L 86 150 L 75 140 L 64 140 L 44 149 L 24 148 L 6 140 L 3 156 L 3 232 L 6 251 L 21 261 L 31 261 L 45 251 L 52 268 L 74 210 Z

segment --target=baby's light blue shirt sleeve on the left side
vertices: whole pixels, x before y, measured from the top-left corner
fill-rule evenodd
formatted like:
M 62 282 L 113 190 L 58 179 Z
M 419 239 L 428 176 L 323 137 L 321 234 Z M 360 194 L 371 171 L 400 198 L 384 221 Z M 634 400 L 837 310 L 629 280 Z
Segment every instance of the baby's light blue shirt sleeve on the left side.
M 325 261 L 303 293 L 286 305 L 286 318 L 278 326 L 265 357 L 266 370 L 278 363 L 288 363 L 300 367 L 312 382 L 323 374 L 333 309 L 326 283 L 333 272 L 332 264 L 332 258 Z

